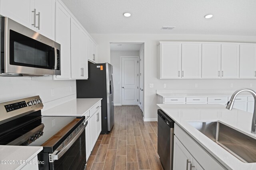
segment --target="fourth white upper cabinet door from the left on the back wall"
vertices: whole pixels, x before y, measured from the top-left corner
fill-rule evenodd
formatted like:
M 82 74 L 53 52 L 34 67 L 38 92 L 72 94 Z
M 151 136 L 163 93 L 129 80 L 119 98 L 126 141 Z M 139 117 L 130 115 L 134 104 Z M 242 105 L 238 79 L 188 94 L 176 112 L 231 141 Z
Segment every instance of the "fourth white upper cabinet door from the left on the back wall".
M 239 77 L 239 45 L 221 45 L 221 77 Z

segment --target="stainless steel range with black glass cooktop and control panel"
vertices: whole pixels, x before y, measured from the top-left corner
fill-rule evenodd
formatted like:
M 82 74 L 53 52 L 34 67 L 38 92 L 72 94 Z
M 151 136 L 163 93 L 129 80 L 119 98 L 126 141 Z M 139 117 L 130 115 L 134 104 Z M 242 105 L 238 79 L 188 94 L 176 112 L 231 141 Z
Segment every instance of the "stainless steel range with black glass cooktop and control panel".
M 85 117 L 42 116 L 39 96 L 0 104 L 0 145 L 42 146 L 40 170 L 84 170 Z

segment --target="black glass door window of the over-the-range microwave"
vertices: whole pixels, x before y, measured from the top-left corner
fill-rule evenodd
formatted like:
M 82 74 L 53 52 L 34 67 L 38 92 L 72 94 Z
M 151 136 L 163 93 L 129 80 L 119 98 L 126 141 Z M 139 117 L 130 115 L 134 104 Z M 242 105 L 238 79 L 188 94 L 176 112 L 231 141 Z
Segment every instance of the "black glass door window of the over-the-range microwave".
M 54 69 L 54 48 L 10 29 L 10 64 Z

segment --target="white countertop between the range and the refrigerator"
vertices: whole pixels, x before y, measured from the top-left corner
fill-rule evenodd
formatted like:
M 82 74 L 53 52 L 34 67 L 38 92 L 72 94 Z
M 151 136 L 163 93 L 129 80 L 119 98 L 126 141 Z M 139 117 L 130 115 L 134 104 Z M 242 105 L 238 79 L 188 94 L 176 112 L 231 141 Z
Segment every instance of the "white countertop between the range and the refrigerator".
M 42 111 L 42 116 L 82 116 L 93 106 L 100 102 L 102 98 L 81 98 L 74 99 Z

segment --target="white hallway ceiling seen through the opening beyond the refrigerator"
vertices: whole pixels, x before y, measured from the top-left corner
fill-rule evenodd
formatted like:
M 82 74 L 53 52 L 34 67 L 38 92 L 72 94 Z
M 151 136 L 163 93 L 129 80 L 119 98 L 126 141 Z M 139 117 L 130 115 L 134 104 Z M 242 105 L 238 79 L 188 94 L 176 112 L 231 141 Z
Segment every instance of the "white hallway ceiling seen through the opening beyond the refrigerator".
M 110 51 L 140 51 L 142 43 L 110 43 Z

